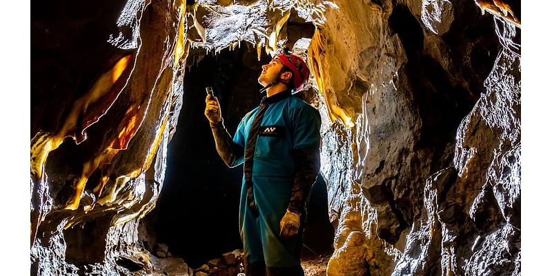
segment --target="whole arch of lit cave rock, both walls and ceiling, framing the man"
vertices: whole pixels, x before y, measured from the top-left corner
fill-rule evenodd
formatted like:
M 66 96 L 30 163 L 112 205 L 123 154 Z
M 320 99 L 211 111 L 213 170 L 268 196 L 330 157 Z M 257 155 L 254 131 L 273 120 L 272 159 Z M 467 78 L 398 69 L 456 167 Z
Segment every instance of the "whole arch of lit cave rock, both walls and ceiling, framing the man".
M 188 2 L 32 6 L 32 274 L 155 270 L 138 229 L 183 69 L 201 60 L 190 48 L 250 43 L 254 62 L 302 37 L 336 226 L 328 275 L 520 274 L 518 6 Z

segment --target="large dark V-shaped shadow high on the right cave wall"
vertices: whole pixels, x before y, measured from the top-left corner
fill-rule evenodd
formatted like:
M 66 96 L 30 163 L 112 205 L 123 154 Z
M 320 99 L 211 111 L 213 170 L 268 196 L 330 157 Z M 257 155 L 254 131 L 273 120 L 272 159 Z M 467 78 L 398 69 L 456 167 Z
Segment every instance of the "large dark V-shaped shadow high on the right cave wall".
M 455 141 L 457 126 L 470 112 L 485 91 L 484 79 L 489 75 L 500 50 L 493 28 L 493 17 L 484 17 L 475 5 L 454 3 L 455 17 L 477 18 L 473 23 L 455 20 L 450 29 L 441 34 L 449 50 L 451 66 L 432 57 L 424 44 L 423 25 L 408 7 L 399 4 L 388 19 L 408 57 L 406 72 L 411 82 L 413 100 L 422 119 L 422 137 L 417 148 L 444 148 Z M 433 34 L 426 34 L 433 35 Z M 437 150 L 437 156 L 442 155 Z M 452 156 L 448 157 L 451 162 Z M 433 164 L 436 165 L 436 164 Z M 433 166 L 435 170 L 439 166 Z

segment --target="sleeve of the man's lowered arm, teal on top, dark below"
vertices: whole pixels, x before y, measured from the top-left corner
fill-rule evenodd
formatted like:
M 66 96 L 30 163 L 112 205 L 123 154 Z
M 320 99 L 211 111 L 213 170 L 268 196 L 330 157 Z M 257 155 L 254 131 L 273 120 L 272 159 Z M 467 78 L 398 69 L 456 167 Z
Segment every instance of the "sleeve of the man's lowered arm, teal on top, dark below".
M 320 113 L 311 106 L 293 112 L 293 150 L 295 175 L 288 210 L 302 213 L 306 197 L 320 170 Z

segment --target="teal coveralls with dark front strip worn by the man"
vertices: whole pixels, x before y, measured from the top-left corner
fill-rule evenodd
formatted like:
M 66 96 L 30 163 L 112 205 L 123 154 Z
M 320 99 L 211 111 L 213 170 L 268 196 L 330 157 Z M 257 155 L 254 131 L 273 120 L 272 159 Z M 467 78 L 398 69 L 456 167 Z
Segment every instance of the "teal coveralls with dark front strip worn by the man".
M 304 205 L 320 166 L 320 114 L 302 99 L 290 95 L 289 91 L 280 92 L 263 101 L 267 101 L 264 104 L 268 106 L 263 110 L 255 146 L 247 145 L 246 142 L 260 106 L 244 116 L 235 132 L 232 147 L 234 151 L 243 148 L 241 155 L 236 152 L 233 158 L 225 159 L 221 154 L 226 164 L 233 167 L 244 163 L 248 148 L 254 150 L 250 178 L 258 213 L 250 208 L 246 174 L 242 181 L 239 204 L 239 230 L 244 242 L 244 259 L 246 266 L 261 266 L 261 270 L 266 266 L 268 275 L 304 275 L 300 260 L 306 215 Z M 217 135 L 215 128 L 213 133 L 217 140 L 221 134 Z M 221 153 L 219 148 L 224 146 L 219 144 L 221 142 L 217 142 L 217 150 Z M 279 222 L 286 209 L 301 213 L 302 222 L 298 235 L 281 239 Z

